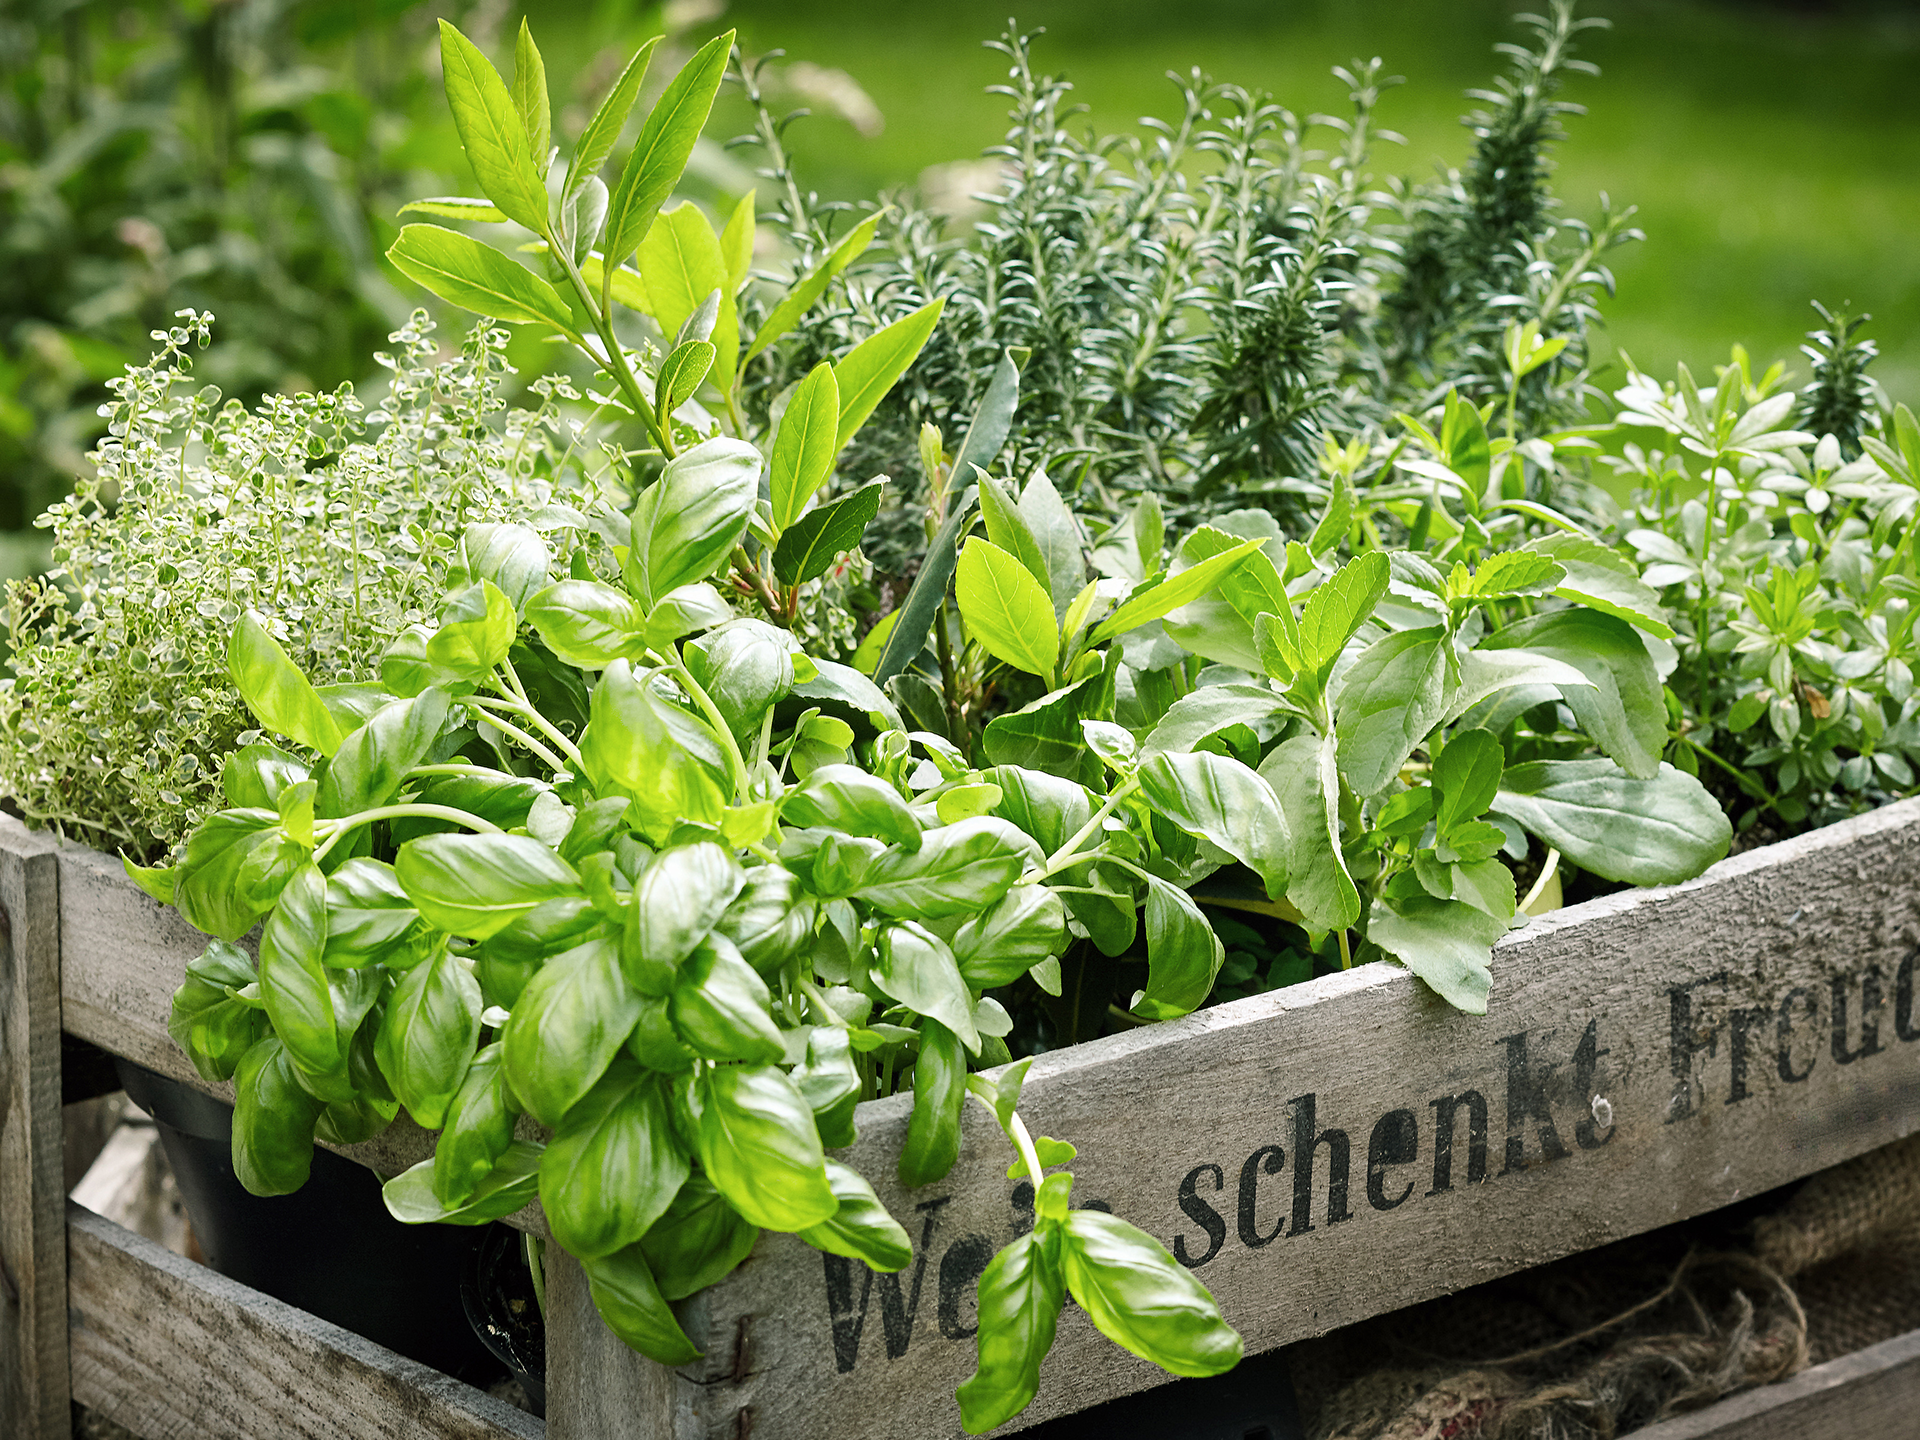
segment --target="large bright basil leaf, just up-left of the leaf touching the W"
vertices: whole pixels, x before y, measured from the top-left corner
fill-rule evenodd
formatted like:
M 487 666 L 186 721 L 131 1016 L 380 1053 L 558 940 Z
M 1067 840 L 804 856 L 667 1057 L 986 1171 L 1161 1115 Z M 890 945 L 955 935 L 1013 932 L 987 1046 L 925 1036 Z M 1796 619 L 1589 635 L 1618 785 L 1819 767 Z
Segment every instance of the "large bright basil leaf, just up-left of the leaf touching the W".
M 778 1066 L 712 1066 L 682 1096 L 701 1169 L 749 1225 L 804 1231 L 839 1210 L 814 1114 Z

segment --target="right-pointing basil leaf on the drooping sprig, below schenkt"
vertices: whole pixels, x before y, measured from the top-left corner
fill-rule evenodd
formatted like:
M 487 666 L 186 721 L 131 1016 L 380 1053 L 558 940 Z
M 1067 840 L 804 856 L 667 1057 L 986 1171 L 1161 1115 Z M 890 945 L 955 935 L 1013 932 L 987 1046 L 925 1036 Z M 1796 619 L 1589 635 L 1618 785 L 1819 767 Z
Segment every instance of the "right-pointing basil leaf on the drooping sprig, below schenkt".
M 1068 1290 L 1108 1340 L 1173 1375 L 1223 1375 L 1240 1336 L 1206 1286 L 1146 1231 L 1100 1210 L 1062 1225 Z

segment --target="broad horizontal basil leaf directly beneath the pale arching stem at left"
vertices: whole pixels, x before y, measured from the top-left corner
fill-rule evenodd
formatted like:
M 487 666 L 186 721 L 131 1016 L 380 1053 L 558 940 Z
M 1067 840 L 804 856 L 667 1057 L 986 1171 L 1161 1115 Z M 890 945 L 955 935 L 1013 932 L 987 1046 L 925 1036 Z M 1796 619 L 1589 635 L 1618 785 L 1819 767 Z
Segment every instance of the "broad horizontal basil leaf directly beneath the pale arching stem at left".
M 430 925 L 474 941 L 580 891 L 574 868 L 532 835 L 424 835 L 399 847 L 394 874 Z

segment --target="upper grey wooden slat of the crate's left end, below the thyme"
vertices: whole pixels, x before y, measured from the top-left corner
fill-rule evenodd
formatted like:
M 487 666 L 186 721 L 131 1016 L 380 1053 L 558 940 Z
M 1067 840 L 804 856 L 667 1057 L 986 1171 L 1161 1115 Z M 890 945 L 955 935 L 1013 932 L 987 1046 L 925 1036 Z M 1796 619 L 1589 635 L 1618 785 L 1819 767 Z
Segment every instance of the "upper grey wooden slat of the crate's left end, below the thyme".
M 17 822 L 8 824 L 17 828 Z M 232 1104 L 232 1085 L 204 1081 L 167 1035 L 173 993 L 186 964 L 207 948 L 207 937 L 127 879 L 113 856 L 84 845 L 58 845 L 56 854 L 67 1031 Z M 434 1152 L 434 1133 L 401 1116 L 365 1144 L 328 1148 L 382 1175 L 397 1175 Z M 538 1204 L 507 1223 L 547 1233 Z

